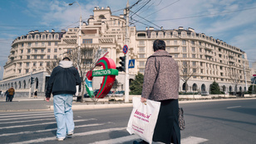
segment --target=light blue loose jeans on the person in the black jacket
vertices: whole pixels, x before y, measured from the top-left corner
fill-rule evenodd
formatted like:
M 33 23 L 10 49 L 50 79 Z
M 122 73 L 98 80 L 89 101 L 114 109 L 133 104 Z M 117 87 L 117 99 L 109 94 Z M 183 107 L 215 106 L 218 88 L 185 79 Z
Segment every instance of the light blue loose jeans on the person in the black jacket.
M 65 138 L 66 133 L 74 131 L 72 101 L 72 94 L 57 94 L 53 97 L 54 116 L 57 121 L 57 138 Z

